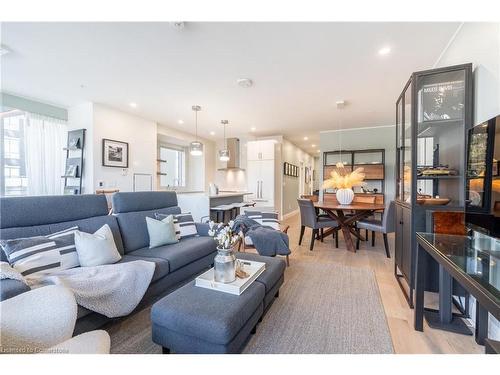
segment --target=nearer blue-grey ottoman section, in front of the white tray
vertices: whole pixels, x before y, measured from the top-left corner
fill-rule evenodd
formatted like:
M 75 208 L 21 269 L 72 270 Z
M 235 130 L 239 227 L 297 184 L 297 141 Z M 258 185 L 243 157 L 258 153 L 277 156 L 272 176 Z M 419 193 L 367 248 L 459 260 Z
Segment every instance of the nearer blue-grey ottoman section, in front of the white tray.
M 192 281 L 153 305 L 153 341 L 163 353 L 239 353 L 262 317 L 265 293 L 260 282 L 236 296 Z

